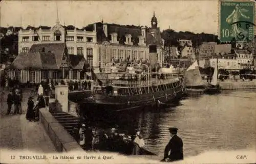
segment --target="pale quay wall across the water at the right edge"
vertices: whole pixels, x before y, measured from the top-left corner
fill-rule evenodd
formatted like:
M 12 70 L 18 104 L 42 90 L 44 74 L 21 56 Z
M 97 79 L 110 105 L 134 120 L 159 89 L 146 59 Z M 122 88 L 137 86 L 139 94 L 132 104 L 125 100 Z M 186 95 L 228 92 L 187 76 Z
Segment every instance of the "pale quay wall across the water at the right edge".
M 256 89 L 256 80 L 246 81 L 220 81 L 221 89 L 234 90 L 234 89 Z

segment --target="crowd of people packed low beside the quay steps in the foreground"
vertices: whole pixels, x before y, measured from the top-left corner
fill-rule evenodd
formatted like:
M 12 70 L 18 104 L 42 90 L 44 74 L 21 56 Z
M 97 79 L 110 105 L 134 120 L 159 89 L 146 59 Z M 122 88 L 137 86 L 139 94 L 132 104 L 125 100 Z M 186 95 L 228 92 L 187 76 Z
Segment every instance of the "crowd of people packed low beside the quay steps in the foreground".
M 135 136 L 125 135 L 118 132 L 117 126 L 109 130 L 102 130 L 97 135 L 96 131 L 87 123 L 81 122 L 74 127 L 72 134 L 78 144 L 86 151 L 104 150 L 122 152 L 127 155 L 141 155 L 145 147 L 140 131 L 137 131 Z M 99 136 L 98 142 L 96 142 L 97 136 Z

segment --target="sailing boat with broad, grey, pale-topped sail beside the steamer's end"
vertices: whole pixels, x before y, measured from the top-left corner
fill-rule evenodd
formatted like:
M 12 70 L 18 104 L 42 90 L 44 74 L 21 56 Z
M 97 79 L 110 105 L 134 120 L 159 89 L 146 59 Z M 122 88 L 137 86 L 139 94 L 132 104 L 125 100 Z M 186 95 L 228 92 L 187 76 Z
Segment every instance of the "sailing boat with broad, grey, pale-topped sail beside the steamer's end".
M 184 85 L 186 93 L 203 93 L 207 88 L 201 77 L 197 61 L 190 65 L 185 71 Z

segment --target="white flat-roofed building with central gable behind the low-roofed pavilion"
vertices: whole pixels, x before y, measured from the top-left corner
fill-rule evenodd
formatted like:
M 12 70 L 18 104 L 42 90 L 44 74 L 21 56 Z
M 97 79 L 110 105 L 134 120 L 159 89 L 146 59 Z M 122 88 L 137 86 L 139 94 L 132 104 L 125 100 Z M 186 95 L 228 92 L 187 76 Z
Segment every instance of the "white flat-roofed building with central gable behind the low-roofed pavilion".
M 25 30 L 18 32 L 18 51 L 28 52 L 33 44 L 65 43 L 68 54 L 83 56 L 90 65 L 97 63 L 97 41 L 96 31 L 86 28 L 77 29 L 73 25 L 63 26 L 57 19 L 53 27 L 39 26 L 34 28 L 28 26 Z M 94 57 L 94 58 L 92 58 Z

